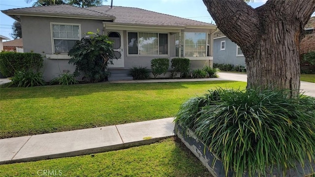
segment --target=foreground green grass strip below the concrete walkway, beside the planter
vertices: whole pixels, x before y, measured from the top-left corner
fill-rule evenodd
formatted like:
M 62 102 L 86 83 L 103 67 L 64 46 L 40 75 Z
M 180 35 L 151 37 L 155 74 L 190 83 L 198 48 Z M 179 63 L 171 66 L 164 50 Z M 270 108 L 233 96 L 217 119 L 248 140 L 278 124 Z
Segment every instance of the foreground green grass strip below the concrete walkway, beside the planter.
M 62 177 L 211 177 L 185 145 L 173 138 L 93 155 L 0 165 L 1 177 L 43 176 L 43 170 Z

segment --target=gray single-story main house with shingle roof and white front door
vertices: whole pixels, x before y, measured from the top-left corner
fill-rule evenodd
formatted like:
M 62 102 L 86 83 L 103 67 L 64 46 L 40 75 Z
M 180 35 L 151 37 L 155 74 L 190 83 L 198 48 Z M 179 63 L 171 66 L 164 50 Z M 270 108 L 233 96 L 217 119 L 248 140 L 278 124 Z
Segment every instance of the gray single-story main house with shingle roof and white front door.
M 213 64 L 212 24 L 140 8 L 67 4 L 2 10 L 22 23 L 24 52 L 44 55 L 44 78 L 73 72 L 67 55 L 86 32 L 99 29 L 114 41 L 116 58 L 109 65 L 110 80 L 130 79 L 133 66 L 150 68 L 151 59 L 185 57 L 192 68 Z

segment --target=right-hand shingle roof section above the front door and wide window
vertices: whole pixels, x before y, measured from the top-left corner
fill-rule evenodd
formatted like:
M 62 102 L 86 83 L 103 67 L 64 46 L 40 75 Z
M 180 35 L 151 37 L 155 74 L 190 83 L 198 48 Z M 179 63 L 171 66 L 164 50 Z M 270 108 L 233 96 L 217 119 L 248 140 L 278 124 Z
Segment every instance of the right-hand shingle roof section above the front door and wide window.
M 110 8 L 110 6 L 97 6 L 88 7 L 87 9 L 115 16 L 115 23 L 160 26 L 206 26 L 216 28 L 215 25 L 209 23 L 184 19 L 134 7 L 114 6 L 113 8 Z

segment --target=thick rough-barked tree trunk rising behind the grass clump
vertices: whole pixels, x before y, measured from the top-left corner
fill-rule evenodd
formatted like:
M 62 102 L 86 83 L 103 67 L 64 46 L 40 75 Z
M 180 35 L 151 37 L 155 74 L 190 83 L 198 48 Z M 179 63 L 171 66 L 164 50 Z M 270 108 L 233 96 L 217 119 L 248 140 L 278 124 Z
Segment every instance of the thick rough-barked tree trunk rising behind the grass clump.
M 244 0 L 203 0 L 221 31 L 241 47 L 248 89 L 300 89 L 299 44 L 315 0 L 268 0 L 253 9 Z

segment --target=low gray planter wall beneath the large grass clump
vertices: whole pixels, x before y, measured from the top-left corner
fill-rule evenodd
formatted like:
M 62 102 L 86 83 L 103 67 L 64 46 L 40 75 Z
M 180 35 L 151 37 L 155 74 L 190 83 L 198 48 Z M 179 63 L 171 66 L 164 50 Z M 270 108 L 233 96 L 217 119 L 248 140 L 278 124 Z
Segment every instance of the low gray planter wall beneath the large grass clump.
M 183 131 L 182 126 L 177 122 L 175 123 L 175 135 L 182 140 L 187 148 L 202 162 L 202 164 L 209 170 L 213 177 L 225 177 L 225 171 L 223 164 L 216 156 L 216 154 L 209 151 L 209 148 L 205 146 L 195 134 L 188 129 Z M 313 169 L 313 170 L 312 170 Z M 309 162 L 305 161 L 305 167 L 303 168 L 300 164 L 296 164 L 296 169 L 287 170 L 286 174 L 283 175 L 277 169 L 274 170 L 273 174 L 267 175 L 267 177 L 311 177 L 315 172 L 315 162 L 312 163 L 312 167 Z M 258 176 L 258 175 L 257 175 Z M 231 171 L 228 172 L 228 177 L 233 177 Z M 245 174 L 244 177 L 249 177 Z

